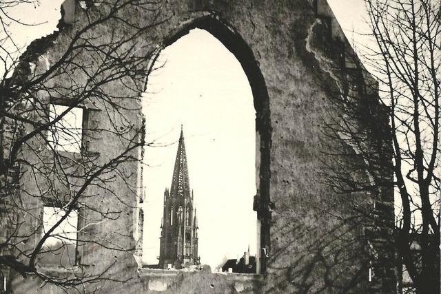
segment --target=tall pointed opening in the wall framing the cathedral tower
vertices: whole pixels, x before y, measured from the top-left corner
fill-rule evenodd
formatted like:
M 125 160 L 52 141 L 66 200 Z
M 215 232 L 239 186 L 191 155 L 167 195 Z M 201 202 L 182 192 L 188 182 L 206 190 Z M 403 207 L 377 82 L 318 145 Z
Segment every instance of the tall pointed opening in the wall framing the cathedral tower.
M 256 111 L 247 76 L 200 29 L 165 48 L 154 67 L 143 94 L 154 143 L 145 152 L 143 263 L 223 271 L 234 260 L 241 266 L 232 272 L 256 273 Z

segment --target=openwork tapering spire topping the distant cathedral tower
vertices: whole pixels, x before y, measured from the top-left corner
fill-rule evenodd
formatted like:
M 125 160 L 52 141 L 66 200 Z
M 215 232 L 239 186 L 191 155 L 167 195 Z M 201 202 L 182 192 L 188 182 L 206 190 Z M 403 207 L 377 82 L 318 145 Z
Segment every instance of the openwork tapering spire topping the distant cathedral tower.
M 187 155 L 185 154 L 183 125 L 181 125 L 181 136 L 179 136 L 178 151 L 176 153 L 176 160 L 174 162 L 170 196 L 176 198 L 190 197 L 190 185 L 188 179 Z

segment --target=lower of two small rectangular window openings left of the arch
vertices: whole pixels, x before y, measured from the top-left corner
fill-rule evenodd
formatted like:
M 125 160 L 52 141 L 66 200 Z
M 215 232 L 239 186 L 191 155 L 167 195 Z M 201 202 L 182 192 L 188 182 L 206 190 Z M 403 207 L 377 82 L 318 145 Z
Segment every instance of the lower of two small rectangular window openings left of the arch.
M 41 236 L 43 237 L 45 232 L 54 227 L 63 216 L 65 216 L 65 211 L 62 208 L 44 206 Z M 77 232 L 78 211 L 73 210 L 45 240 L 41 249 L 40 263 L 65 267 L 76 265 Z

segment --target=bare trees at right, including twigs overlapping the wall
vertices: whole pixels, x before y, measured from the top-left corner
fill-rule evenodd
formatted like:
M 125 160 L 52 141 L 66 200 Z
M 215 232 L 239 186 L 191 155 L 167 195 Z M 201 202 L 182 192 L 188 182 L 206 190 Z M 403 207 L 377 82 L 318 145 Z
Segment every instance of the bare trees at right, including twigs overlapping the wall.
M 338 193 L 369 192 L 374 201 L 381 190 L 394 189 L 397 263 L 412 281 L 402 286 L 439 293 L 441 6 L 431 0 L 365 3 L 373 42 L 362 46 L 362 59 L 379 84 L 355 78 L 331 95 L 341 116 L 324 130 L 341 145 L 329 148 L 334 159 L 323 175 Z M 367 219 L 375 210 L 358 209 Z

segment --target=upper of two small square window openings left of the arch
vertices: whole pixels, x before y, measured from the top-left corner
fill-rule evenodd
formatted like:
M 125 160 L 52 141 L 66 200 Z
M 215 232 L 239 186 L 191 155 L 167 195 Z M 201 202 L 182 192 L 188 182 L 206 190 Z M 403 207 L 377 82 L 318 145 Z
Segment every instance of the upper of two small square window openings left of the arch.
M 50 121 L 59 117 L 69 107 L 65 105 L 50 104 Z M 57 151 L 81 151 L 83 136 L 83 108 L 73 107 L 61 120 L 49 128 L 48 143 Z

